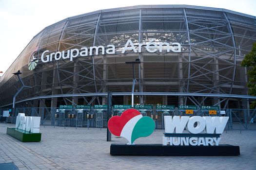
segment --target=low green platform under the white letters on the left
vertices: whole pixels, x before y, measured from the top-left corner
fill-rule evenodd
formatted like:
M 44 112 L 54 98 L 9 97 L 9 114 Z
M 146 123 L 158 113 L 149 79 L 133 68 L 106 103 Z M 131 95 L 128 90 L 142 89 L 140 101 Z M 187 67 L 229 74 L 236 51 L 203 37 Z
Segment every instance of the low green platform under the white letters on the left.
M 7 128 L 6 134 L 13 136 L 21 142 L 39 142 L 41 141 L 41 133 L 31 133 L 20 130 L 18 128 Z

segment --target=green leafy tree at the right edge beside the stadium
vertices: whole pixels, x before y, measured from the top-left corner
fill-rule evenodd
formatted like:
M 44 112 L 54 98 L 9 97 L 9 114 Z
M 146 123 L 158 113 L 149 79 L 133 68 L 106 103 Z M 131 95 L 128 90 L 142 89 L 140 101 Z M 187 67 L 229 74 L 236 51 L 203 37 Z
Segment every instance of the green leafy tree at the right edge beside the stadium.
M 256 96 L 256 43 L 253 44 L 252 50 L 245 55 L 241 66 L 243 67 L 252 67 L 252 69 L 247 70 L 249 75 L 249 80 L 247 86 L 249 88 L 249 95 Z M 250 104 L 250 108 L 256 107 L 256 101 Z

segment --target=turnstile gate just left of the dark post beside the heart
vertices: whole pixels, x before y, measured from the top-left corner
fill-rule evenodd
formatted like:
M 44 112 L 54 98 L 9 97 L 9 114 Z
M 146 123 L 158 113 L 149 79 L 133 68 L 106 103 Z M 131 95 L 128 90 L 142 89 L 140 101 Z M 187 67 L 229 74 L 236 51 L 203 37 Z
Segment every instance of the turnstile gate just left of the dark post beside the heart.
M 107 127 L 108 105 L 94 105 L 93 107 L 93 124 L 95 127 Z

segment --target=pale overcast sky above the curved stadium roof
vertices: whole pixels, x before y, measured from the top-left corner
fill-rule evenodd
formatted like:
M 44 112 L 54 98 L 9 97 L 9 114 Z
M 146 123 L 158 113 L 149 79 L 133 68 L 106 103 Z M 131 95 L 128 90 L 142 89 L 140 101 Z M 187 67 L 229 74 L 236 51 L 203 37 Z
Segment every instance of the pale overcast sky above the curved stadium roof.
M 5 72 L 48 25 L 101 9 L 153 4 L 225 8 L 256 16 L 256 0 L 0 0 L 0 71 Z

